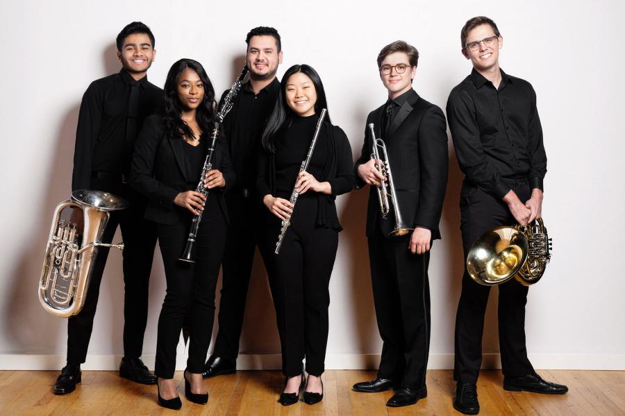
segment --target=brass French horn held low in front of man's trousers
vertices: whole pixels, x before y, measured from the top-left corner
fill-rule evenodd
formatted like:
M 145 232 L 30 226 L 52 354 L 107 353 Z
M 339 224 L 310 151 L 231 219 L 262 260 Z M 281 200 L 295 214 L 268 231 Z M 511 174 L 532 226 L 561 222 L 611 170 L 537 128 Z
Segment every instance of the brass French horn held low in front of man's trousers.
M 530 286 L 540 280 L 551 259 L 551 239 L 541 218 L 526 226 L 495 227 L 469 249 L 467 272 L 479 284 L 493 286 L 514 277 Z

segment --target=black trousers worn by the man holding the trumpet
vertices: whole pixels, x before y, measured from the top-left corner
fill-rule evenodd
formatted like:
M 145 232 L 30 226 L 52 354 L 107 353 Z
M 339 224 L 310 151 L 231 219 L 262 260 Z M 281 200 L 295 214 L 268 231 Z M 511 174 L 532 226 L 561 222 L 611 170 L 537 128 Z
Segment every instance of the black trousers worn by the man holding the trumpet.
M 378 377 L 423 388 L 430 351 L 430 253 L 412 254 L 410 234 L 370 237 L 369 262 L 378 330 L 383 340 Z

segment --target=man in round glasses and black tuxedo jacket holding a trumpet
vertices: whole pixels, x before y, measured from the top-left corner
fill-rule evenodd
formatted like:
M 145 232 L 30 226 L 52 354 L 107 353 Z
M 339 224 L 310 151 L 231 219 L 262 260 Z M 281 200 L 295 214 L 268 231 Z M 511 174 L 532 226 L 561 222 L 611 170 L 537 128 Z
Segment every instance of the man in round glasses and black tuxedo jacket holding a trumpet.
M 387 148 L 397 202 L 410 232 L 391 236 L 395 216 L 382 218 L 377 187 L 386 178 L 378 171 L 367 127 L 363 152 L 354 171 L 357 187 L 369 184 L 367 241 L 378 329 L 383 340 L 376 379 L 353 385 L 358 392 L 397 388 L 387 406 L 407 406 L 426 397 L 430 347 L 428 263 L 447 185 L 447 132 L 439 107 L 412 89 L 419 53 L 397 41 L 378 55 L 380 78 L 388 91 L 385 104 L 367 117 L 376 138 Z

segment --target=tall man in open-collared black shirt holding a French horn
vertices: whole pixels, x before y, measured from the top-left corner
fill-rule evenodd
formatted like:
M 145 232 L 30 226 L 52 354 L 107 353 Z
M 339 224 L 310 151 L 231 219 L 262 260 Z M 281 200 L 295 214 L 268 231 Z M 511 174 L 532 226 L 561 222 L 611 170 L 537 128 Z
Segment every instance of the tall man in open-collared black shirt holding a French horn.
M 449 94 L 447 117 L 460 169 L 460 229 L 467 252 L 481 234 L 499 225 L 526 225 L 540 218 L 547 156 L 536 110 L 536 94 L 525 80 L 499 68 L 503 37 L 487 17 L 469 19 L 460 32 L 462 55 L 473 70 Z M 538 376 L 527 358 L 525 304 L 528 287 L 514 279 L 499 285 L 499 347 L 503 388 L 564 394 L 565 385 Z M 456 315 L 458 382 L 453 407 L 479 412 L 476 382 L 490 286 L 477 284 L 465 268 Z

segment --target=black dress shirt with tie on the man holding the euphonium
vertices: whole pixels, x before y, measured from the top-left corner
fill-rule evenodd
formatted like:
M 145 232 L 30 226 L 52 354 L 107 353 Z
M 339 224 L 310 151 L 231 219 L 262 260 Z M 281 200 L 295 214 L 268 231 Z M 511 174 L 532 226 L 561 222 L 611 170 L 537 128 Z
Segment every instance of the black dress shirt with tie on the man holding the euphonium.
M 92 82 L 78 114 L 72 190 L 90 189 L 92 175 L 122 182 L 143 120 L 162 102 L 162 89 L 124 69 Z

